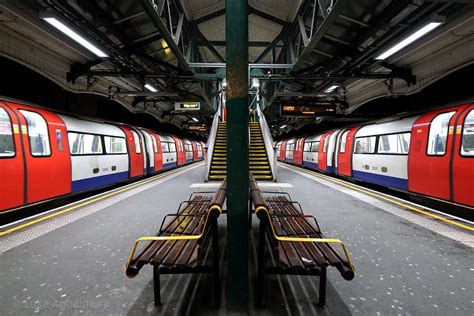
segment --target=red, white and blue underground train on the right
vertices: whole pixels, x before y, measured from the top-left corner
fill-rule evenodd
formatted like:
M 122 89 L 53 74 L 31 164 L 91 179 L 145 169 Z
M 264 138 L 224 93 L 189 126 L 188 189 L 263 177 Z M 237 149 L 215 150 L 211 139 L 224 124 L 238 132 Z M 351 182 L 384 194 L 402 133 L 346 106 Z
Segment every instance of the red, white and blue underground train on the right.
M 302 140 L 302 146 L 297 146 L 298 140 Z M 280 161 L 474 206 L 472 102 L 290 142 L 296 145 L 285 147 L 285 141 L 277 143 Z M 302 160 L 295 159 L 300 154 Z

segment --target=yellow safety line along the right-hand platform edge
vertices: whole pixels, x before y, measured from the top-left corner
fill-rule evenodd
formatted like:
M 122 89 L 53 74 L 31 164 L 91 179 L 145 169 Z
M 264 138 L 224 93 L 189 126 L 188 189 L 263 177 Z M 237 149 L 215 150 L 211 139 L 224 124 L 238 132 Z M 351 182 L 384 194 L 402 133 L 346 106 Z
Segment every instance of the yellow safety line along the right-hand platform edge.
M 301 168 L 298 168 L 298 167 L 294 167 L 294 166 L 290 166 L 288 165 L 288 168 L 290 169 L 294 169 L 294 170 L 298 170 L 298 171 L 301 171 L 301 172 L 304 172 L 304 173 L 307 173 L 307 174 L 310 174 L 310 175 L 313 175 L 315 177 L 319 177 L 321 179 L 324 179 L 324 180 L 328 180 L 328 181 L 331 181 L 331 182 L 334 182 L 334 183 L 337 183 L 339 185 L 342 185 L 342 186 L 345 186 L 345 187 L 348 187 L 348 188 L 351 188 L 353 190 L 356 190 L 356 191 L 359 191 L 359 192 L 362 192 L 362 193 L 365 193 L 365 194 L 368 194 L 368 195 L 372 195 L 372 196 L 375 196 L 377 198 L 380 198 L 382 200 L 385 200 L 385 201 L 388 201 L 388 202 L 391 202 L 391 203 L 394 203 L 394 204 L 397 204 L 399 206 L 402 206 L 402 207 L 405 207 L 411 211 L 414 211 L 414 212 L 417 212 L 417 213 L 420 213 L 420 214 L 423 214 L 423 215 L 426 215 L 426 216 L 430 216 L 430 217 L 433 217 L 433 218 L 436 218 L 440 221 L 443 221 L 445 223 L 448 223 L 448 224 L 451 224 L 451 225 L 454 225 L 454 226 L 457 226 L 457 227 L 460 227 L 460 228 L 463 228 L 463 229 L 466 229 L 466 230 L 469 230 L 469 231 L 474 231 L 474 227 L 470 227 L 470 226 L 467 226 L 467 225 L 464 225 L 464 224 L 461 224 L 461 223 L 458 223 L 456 221 L 453 221 L 453 220 L 450 220 L 450 219 L 447 219 L 447 218 L 444 218 L 442 216 L 439 216 L 439 215 L 436 215 L 436 214 L 433 214 L 433 213 L 430 213 L 428 211 L 423 211 L 423 210 L 420 210 L 419 208 L 416 208 L 414 206 L 411 206 L 409 204 L 405 204 L 403 202 L 398 202 L 396 200 L 393 200 L 391 198 L 388 198 L 386 196 L 383 196 L 381 194 L 377 194 L 377 193 L 374 193 L 374 192 L 371 192 L 371 191 L 368 191 L 368 190 L 365 190 L 363 188 L 359 188 L 357 186 L 354 186 L 354 185 L 351 185 L 349 183 L 345 183 L 341 180 L 337 180 L 337 179 L 333 179 L 329 176 L 325 176 L 325 175 L 322 175 L 322 174 L 318 174 L 314 171 L 309 171 L 309 170 L 304 170 L 304 169 L 301 169 Z

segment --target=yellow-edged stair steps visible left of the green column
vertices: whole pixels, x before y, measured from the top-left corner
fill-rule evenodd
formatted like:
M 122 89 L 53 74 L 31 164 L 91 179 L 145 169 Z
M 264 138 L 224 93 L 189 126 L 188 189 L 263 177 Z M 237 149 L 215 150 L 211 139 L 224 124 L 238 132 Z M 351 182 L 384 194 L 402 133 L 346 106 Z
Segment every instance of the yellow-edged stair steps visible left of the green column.
M 226 123 L 220 122 L 217 126 L 216 142 L 212 152 L 211 168 L 209 170 L 210 181 L 224 180 L 227 172 L 227 130 Z

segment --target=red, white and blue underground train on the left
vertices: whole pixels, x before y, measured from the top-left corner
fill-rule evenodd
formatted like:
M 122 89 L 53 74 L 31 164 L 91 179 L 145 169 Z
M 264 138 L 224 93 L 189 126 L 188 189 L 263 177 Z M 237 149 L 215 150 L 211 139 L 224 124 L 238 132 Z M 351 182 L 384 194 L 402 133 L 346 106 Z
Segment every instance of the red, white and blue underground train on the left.
M 185 159 L 185 143 L 194 143 Z M 204 143 L 0 99 L 0 212 L 202 160 Z

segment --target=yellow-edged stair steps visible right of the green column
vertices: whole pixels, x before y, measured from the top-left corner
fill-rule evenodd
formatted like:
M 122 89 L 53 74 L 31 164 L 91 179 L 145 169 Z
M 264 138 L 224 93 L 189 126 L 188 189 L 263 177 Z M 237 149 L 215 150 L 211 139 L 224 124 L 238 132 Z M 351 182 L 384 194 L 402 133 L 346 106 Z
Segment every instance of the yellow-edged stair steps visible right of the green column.
M 256 180 L 273 180 L 260 123 L 250 123 L 249 172 Z

